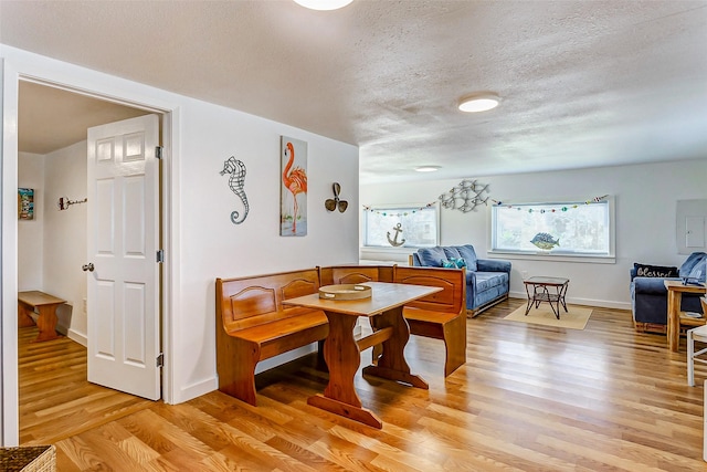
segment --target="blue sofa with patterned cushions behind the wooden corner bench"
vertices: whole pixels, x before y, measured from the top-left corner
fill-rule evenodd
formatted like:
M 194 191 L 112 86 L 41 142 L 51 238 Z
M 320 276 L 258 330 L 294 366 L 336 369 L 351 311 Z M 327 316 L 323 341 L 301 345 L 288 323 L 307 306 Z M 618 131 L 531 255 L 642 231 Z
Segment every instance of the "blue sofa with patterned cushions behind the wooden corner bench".
M 410 265 L 465 266 L 467 316 L 476 316 L 508 298 L 510 262 L 478 259 L 471 244 L 419 249 L 410 255 Z

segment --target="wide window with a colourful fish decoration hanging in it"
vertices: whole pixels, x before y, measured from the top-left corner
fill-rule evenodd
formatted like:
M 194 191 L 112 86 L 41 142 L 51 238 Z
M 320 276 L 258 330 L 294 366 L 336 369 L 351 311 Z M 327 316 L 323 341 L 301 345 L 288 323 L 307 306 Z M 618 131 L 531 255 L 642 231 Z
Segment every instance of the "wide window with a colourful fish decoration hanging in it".
M 613 198 L 490 209 L 490 252 L 542 256 L 614 256 Z

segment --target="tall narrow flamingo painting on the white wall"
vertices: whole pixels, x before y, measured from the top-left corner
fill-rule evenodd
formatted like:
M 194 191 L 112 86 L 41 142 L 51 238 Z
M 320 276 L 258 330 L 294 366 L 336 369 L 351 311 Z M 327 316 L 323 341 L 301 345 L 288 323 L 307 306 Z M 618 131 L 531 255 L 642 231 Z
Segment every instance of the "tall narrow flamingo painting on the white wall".
M 279 235 L 307 235 L 307 143 L 281 137 Z

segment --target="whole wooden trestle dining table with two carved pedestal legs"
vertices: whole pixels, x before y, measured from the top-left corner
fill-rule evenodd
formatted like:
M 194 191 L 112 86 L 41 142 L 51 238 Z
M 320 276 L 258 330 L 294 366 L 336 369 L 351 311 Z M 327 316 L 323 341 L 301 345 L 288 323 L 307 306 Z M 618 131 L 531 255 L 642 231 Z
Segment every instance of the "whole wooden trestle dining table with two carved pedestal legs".
M 320 298 L 319 294 L 310 294 L 283 303 L 321 310 L 329 321 L 329 334 L 324 344 L 329 382 L 324 394 L 310 397 L 307 403 L 381 429 L 382 421 L 374 412 L 363 407 L 354 386 L 354 378 L 361 364 L 361 350 L 382 344 L 382 354 L 376 365 L 365 367 L 363 375 L 428 389 L 428 382 L 412 374 L 405 360 L 404 349 L 410 338 L 410 329 L 402 315 L 402 308 L 405 303 L 442 289 L 388 282 L 366 282 L 362 285 L 371 287 L 369 298 L 328 300 Z M 371 318 L 371 325 L 376 331 L 357 339 L 354 328 L 359 316 Z

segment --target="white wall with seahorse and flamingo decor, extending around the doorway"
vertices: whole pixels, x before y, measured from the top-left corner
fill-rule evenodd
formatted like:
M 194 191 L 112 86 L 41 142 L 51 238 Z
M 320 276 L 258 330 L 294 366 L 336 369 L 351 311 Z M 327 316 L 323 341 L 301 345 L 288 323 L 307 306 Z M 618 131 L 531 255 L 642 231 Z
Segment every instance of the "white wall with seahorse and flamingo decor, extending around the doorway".
M 4 67 L 3 203 L 17 192 L 17 128 L 12 123 L 17 123 L 19 76 L 172 112 L 175 127 L 166 130 L 168 154 L 163 166 L 165 245 L 168 248 L 163 332 L 167 401 L 186 401 L 217 388 L 215 277 L 358 260 L 357 147 L 10 46 L 0 45 L 0 60 Z M 278 235 L 281 135 L 308 144 L 308 235 L 304 238 Z M 223 161 L 232 155 L 247 167 L 245 191 L 251 212 L 240 225 L 231 223 L 230 213 L 236 200 L 229 189 L 228 177 L 219 175 Z M 333 197 L 335 181 L 341 183 L 341 197 L 349 201 L 346 213 L 329 213 L 324 208 L 324 201 Z M 15 189 L 9 192 L 10 187 Z M 14 219 L 8 218 L 9 208 L 3 204 L 3 234 L 17 231 L 17 214 Z M 65 213 L 73 210 L 75 208 Z M 2 251 L 3 298 L 12 300 L 17 292 L 12 238 L 3 242 Z M 13 311 L 17 306 L 3 302 L 3 365 L 17 363 L 13 358 L 17 352 L 6 349 L 14 346 L 10 338 Z M 10 368 L 3 370 L 3 382 L 8 379 L 15 381 Z M 14 385 L 3 385 L 3 388 L 12 389 Z M 12 395 L 6 394 L 3 391 L 3 408 L 12 402 Z M 17 411 L 10 408 L 2 413 L 3 432 L 8 433 Z M 11 437 L 3 440 L 13 442 Z

